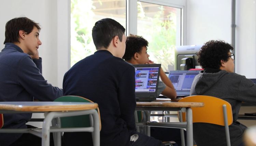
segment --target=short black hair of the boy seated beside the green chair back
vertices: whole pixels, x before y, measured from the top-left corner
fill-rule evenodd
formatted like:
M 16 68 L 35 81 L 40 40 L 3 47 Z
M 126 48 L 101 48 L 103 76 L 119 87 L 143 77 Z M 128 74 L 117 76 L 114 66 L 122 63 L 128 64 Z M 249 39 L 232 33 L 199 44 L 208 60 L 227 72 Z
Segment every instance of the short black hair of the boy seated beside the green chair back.
M 101 47 L 108 48 L 115 36 L 122 42 L 124 33 L 125 28 L 117 21 L 110 18 L 101 19 L 93 27 L 93 42 L 97 50 Z

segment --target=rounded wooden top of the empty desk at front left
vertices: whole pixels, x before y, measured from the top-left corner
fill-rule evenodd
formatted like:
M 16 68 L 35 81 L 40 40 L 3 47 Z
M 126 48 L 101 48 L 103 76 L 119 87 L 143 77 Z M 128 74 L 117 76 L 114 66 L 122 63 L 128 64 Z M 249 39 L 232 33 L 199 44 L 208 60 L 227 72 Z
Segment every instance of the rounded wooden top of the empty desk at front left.
M 0 110 L 23 112 L 79 111 L 98 107 L 84 102 L 0 102 Z

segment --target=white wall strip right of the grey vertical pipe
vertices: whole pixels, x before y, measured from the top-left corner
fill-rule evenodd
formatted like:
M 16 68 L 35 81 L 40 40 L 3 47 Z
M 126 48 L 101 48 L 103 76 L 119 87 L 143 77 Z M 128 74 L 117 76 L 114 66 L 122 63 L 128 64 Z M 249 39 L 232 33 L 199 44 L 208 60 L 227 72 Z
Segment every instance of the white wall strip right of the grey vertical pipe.
M 236 1 L 236 73 L 256 78 L 256 1 Z

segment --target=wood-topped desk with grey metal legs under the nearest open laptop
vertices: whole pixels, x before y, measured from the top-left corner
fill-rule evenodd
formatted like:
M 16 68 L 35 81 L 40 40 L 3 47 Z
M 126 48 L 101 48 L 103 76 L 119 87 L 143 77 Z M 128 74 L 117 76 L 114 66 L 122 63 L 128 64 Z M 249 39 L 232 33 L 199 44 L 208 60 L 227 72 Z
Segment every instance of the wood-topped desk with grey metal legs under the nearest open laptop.
M 168 99 L 170 100 L 170 99 Z M 158 100 L 159 101 L 159 100 Z M 187 129 L 187 145 L 193 146 L 193 121 L 192 121 L 192 109 L 191 107 L 203 107 L 203 103 L 182 103 L 182 102 L 137 102 L 136 109 L 138 111 L 182 111 L 186 112 L 186 122 L 150 122 L 150 113 L 146 114 L 146 123 L 137 123 L 137 126 L 148 126 L 147 135 L 150 135 L 150 127 L 173 127 L 173 128 L 186 128 Z M 180 117 L 181 118 L 181 117 Z

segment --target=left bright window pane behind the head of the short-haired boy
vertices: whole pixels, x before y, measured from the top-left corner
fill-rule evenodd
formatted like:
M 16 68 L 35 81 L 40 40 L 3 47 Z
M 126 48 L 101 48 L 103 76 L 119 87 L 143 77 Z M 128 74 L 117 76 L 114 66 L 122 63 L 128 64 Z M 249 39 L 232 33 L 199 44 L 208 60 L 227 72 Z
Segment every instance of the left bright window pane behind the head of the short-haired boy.
M 96 51 L 91 30 L 103 18 L 125 27 L 126 0 L 71 0 L 71 67 Z

